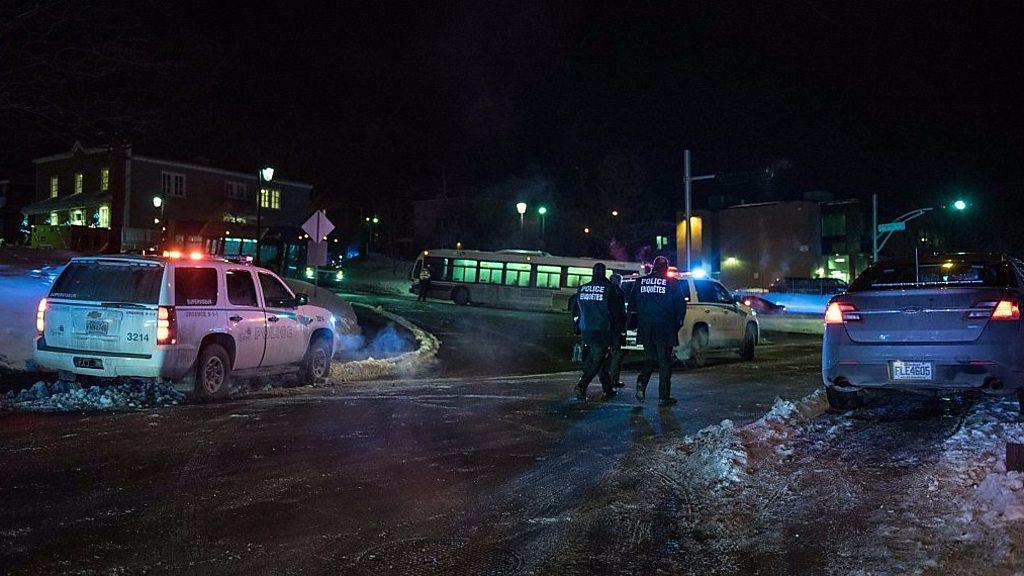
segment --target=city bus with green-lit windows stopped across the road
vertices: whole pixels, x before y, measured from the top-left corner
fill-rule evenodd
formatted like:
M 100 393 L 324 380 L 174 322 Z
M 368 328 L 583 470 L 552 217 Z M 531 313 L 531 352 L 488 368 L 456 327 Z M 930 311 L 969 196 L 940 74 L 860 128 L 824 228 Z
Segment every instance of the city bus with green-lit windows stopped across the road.
M 424 250 L 416 259 L 410 292 L 419 293 L 420 272 L 430 271 L 428 297 L 493 307 L 561 311 L 577 287 L 590 282 L 593 266 L 604 262 L 608 274 L 643 273 L 643 264 L 594 258 L 552 256 L 531 250 Z

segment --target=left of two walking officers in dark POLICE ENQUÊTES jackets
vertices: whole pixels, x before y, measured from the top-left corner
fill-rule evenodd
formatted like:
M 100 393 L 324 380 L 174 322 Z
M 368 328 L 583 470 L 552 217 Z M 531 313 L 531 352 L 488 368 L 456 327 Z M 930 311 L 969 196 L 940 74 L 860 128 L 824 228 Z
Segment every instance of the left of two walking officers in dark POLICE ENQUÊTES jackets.
M 594 276 L 590 282 L 577 289 L 577 306 L 580 310 L 580 333 L 584 345 L 590 346 L 583 363 L 583 374 L 577 384 L 577 399 L 587 401 L 587 386 L 594 376 L 607 365 L 609 378 L 602 378 L 604 398 L 615 396 L 613 382 L 618 381 L 623 354 L 618 345 L 618 334 L 626 321 L 623 298 L 615 287 L 605 277 L 603 263 L 594 264 Z

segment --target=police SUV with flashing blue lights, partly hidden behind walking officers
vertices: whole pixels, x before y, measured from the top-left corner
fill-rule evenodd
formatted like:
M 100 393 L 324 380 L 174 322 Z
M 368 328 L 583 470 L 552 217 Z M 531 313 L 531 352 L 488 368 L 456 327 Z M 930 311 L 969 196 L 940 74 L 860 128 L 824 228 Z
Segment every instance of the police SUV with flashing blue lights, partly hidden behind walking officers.
M 686 297 L 686 319 L 679 329 L 676 358 L 692 367 L 707 364 L 712 351 L 733 351 L 744 360 L 753 360 L 761 338 L 757 313 L 733 297 L 720 282 L 685 273 L 676 273 L 676 277 Z M 637 278 L 633 275 L 623 282 L 626 294 Z M 631 314 L 629 310 L 626 313 L 628 317 Z M 627 330 L 623 349 L 643 349 L 637 343 L 635 329 Z

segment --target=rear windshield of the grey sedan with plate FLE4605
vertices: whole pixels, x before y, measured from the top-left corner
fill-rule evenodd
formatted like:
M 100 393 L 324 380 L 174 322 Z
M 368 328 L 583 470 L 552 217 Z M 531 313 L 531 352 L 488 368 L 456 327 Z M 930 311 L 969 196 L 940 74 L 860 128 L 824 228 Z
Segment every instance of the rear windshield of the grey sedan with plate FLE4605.
M 1016 286 L 1017 280 L 1007 262 L 922 262 L 916 266 L 913 262 L 887 262 L 865 270 L 850 291 Z

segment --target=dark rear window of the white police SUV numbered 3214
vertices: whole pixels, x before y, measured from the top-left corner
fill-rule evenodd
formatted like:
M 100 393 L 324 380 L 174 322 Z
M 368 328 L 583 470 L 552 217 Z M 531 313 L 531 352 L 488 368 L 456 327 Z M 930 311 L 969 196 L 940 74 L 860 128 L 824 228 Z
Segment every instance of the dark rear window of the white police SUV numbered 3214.
M 160 299 L 164 265 L 124 260 L 69 263 L 50 290 L 52 298 L 95 302 L 155 304 Z

